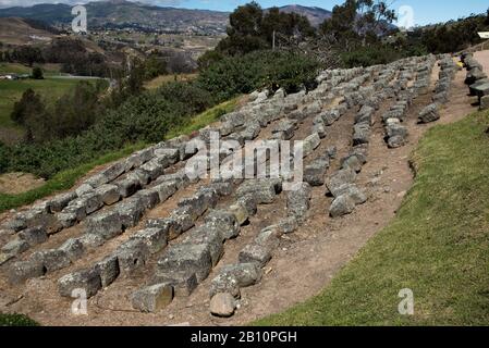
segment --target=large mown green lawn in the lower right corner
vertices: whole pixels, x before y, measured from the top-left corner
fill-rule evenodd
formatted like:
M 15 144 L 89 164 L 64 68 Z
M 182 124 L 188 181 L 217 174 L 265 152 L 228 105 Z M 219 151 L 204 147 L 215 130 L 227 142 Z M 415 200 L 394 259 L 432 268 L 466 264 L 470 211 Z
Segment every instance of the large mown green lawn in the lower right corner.
M 320 295 L 255 325 L 488 325 L 489 113 L 431 128 L 414 186 Z M 398 312 L 414 293 L 414 315 Z

